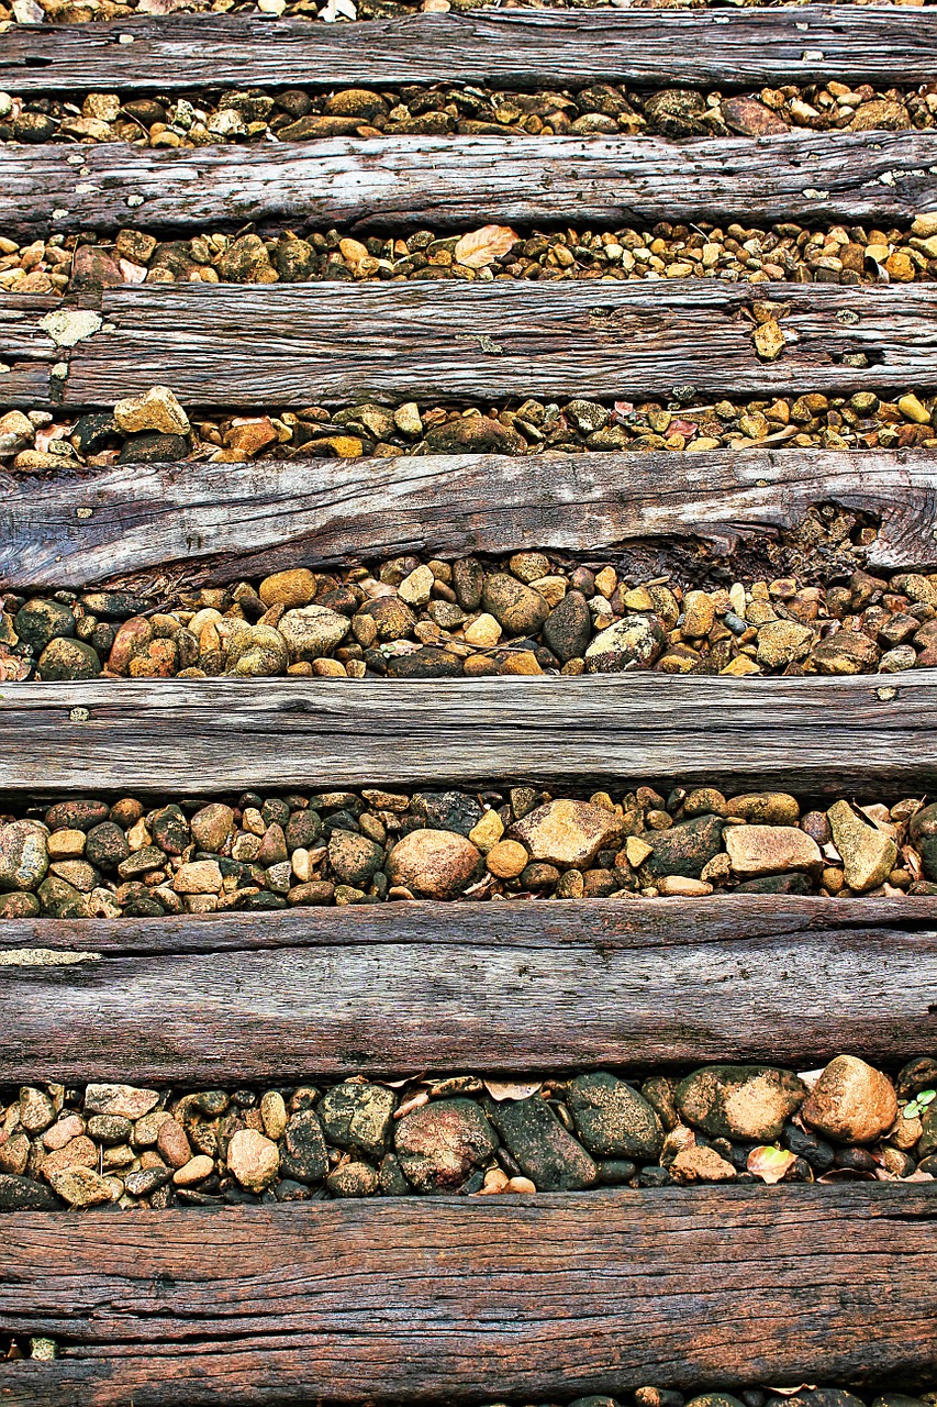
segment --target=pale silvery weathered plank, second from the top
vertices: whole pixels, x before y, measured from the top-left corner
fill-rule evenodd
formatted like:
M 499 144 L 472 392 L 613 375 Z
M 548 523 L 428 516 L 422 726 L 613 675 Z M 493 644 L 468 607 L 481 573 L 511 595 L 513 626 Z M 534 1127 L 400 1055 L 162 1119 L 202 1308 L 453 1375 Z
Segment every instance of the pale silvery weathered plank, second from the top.
M 73 165 L 79 152 L 83 166 Z M 107 234 L 131 218 L 148 229 L 189 232 L 245 221 L 307 229 L 431 224 L 442 231 L 487 219 L 611 228 L 737 218 L 756 225 L 891 225 L 937 208 L 934 165 L 933 132 L 791 132 L 681 144 L 653 136 L 381 136 L 196 151 L 120 142 L 6 146 L 0 229 L 23 238 Z

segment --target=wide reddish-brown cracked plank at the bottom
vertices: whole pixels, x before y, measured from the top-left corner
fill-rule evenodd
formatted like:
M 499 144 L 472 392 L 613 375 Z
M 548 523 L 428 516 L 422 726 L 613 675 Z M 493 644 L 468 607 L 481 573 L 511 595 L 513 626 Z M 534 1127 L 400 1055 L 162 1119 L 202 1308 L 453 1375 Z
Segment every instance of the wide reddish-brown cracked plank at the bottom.
M 937 1188 L 17 1214 L 7 1407 L 542 1401 L 937 1365 Z M 79 1228 L 80 1227 L 80 1234 Z

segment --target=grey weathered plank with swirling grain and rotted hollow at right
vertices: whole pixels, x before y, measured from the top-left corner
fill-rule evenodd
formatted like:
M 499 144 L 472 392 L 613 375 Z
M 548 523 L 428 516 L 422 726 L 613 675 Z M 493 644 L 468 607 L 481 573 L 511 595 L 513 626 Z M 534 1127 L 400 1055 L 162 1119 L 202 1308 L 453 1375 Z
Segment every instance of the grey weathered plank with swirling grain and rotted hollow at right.
M 0 587 L 145 582 L 155 567 L 201 585 L 404 552 L 599 550 L 642 537 L 730 552 L 819 502 L 881 518 L 872 570 L 937 564 L 930 450 L 426 454 L 117 464 L 46 483 L 0 471 Z

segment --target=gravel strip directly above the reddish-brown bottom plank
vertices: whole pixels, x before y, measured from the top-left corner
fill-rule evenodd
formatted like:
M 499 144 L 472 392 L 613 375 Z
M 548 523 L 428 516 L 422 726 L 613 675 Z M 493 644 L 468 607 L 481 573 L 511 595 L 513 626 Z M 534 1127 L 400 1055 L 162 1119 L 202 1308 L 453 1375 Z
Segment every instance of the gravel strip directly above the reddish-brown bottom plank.
M 0 1210 L 217 1206 L 411 1193 L 841 1180 L 937 1173 L 937 1059 L 893 1082 L 705 1065 L 322 1089 L 24 1086 L 0 1103 Z

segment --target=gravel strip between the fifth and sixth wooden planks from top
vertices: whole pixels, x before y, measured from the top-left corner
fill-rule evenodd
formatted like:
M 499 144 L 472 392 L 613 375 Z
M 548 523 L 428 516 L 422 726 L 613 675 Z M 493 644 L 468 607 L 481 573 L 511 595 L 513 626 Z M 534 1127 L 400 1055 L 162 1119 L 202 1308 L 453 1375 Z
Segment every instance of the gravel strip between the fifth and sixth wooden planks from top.
M 713 893 L 937 895 L 937 802 L 525 785 L 73 799 L 0 816 L 0 919 Z

